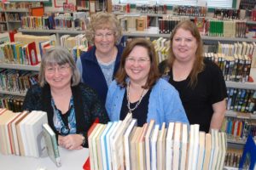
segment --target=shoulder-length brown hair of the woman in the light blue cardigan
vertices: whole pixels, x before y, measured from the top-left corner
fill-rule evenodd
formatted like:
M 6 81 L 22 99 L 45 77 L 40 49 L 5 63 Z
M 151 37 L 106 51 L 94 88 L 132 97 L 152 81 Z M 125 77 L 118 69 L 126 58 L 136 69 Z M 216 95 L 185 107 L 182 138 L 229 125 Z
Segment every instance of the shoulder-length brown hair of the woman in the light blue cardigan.
M 121 57 L 119 71 L 116 74 L 116 81 L 118 82 L 118 84 L 121 87 L 127 86 L 125 79 L 128 76 L 125 71 L 125 59 L 129 56 L 129 54 L 131 54 L 132 49 L 135 48 L 136 46 L 141 46 L 148 50 L 148 56 L 150 59 L 150 70 L 148 73 L 148 80 L 142 88 L 152 88 L 154 86 L 154 83 L 159 79 L 160 73 L 159 73 L 158 67 L 157 67 L 154 45 L 152 42 L 150 42 L 149 40 L 144 39 L 144 38 L 134 39 L 131 42 L 129 42 L 127 44 L 127 46 L 125 47 L 122 57 Z

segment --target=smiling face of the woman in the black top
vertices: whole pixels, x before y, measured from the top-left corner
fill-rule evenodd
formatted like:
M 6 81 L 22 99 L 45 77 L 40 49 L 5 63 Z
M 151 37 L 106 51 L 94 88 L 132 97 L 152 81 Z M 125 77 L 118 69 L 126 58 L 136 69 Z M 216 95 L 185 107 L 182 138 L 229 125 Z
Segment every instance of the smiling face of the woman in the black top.
M 194 61 L 197 46 L 196 39 L 190 31 L 183 28 L 177 29 L 172 40 L 172 51 L 177 61 Z

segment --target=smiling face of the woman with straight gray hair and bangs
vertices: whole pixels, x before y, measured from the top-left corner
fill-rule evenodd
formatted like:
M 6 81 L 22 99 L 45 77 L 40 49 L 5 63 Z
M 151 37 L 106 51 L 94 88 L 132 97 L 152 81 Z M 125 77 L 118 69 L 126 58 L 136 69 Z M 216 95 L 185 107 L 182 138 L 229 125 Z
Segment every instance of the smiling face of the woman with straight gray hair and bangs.
M 72 70 L 68 64 L 46 65 L 44 76 L 50 88 L 66 88 L 71 86 Z

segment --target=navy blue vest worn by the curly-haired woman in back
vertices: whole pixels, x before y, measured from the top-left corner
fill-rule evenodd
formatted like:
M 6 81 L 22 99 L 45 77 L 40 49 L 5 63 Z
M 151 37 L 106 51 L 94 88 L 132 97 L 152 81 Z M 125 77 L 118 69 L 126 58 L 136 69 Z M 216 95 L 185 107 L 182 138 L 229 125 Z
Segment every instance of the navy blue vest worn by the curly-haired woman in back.
M 119 63 L 124 47 L 119 45 L 117 46 L 117 48 L 118 54 L 116 56 L 114 64 L 113 78 L 116 74 L 116 71 L 118 71 L 119 69 Z M 105 105 L 108 93 L 108 85 L 103 75 L 101 66 L 98 64 L 98 61 L 96 59 L 95 52 L 96 47 L 94 46 L 88 52 L 82 54 L 77 61 L 77 66 L 81 73 L 82 82 L 90 86 L 90 88 L 94 88 L 99 95 L 102 104 Z

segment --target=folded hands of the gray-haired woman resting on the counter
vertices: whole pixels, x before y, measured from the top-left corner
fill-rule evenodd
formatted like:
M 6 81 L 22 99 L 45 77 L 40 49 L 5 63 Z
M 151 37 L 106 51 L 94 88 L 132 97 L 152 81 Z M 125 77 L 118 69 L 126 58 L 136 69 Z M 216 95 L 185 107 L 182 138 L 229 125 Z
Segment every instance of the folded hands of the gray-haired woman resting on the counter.
M 58 143 L 67 150 L 80 150 L 83 148 L 83 139 L 81 134 L 68 134 L 67 136 L 59 135 Z

